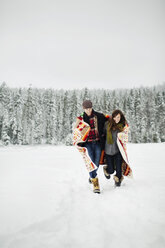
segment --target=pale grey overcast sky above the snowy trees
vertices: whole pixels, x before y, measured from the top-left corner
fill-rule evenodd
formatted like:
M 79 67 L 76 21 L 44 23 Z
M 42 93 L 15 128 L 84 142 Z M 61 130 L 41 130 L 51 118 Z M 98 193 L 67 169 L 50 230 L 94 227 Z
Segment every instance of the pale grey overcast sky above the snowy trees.
M 128 88 L 165 81 L 164 0 L 0 0 L 0 82 Z

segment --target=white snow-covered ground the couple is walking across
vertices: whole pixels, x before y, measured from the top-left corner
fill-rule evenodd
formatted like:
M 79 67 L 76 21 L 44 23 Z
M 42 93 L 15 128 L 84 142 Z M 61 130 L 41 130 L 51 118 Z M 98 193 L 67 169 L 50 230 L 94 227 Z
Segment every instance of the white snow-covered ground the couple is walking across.
M 0 248 L 164 248 L 165 143 L 128 144 L 134 179 L 94 194 L 74 147 L 0 148 Z

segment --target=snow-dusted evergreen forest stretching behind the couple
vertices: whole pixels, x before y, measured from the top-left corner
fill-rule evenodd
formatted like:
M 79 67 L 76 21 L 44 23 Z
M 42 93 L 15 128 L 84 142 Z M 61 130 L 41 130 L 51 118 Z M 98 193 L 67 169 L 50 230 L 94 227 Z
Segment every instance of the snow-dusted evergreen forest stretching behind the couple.
M 10 88 L 0 84 L 0 143 L 72 145 L 76 116 L 90 99 L 95 111 L 120 109 L 130 126 L 129 142 L 165 141 L 165 84 L 132 89 Z

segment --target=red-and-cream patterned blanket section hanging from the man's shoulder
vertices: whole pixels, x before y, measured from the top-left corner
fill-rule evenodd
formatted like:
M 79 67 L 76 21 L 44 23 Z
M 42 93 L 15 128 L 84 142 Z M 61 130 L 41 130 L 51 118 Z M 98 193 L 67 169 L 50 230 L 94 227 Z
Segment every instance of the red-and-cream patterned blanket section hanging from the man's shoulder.
M 86 168 L 88 172 L 97 169 L 97 166 L 92 162 L 89 157 L 88 150 L 83 147 L 83 143 L 86 141 L 88 134 L 90 132 L 90 126 L 88 123 L 84 122 L 83 118 L 77 117 L 76 124 L 73 131 L 73 145 L 76 146 L 80 154 L 82 155 Z

